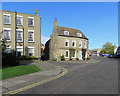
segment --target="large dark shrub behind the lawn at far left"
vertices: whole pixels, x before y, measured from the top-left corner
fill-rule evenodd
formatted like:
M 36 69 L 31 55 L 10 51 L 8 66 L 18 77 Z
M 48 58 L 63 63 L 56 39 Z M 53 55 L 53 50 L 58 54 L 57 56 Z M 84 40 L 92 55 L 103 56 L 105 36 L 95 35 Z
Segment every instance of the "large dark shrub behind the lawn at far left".
M 19 58 L 15 53 L 2 53 L 2 65 L 3 66 L 17 66 L 19 64 Z

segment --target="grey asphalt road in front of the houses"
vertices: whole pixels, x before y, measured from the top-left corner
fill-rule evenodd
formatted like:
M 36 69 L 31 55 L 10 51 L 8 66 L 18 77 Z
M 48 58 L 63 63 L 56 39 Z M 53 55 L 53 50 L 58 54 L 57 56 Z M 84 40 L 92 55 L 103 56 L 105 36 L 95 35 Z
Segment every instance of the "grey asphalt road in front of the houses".
M 18 94 L 118 94 L 118 59 L 94 57 L 98 63 L 64 64 L 67 74 Z

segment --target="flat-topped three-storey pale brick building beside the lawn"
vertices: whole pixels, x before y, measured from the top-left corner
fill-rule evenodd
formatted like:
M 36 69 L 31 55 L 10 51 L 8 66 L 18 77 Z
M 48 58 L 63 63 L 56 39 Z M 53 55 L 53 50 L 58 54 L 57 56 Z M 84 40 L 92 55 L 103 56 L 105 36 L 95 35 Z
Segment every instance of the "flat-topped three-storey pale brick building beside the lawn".
M 41 56 L 40 16 L 1 10 L 2 39 L 7 43 L 6 52 L 16 51 L 26 56 Z

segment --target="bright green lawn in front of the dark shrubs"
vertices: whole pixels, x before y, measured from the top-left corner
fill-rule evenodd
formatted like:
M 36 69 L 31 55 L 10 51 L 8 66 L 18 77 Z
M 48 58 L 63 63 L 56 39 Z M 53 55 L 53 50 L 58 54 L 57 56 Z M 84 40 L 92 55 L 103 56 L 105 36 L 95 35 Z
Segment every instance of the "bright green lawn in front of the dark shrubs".
M 13 78 L 16 76 L 21 76 L 29 73 L 35 73 L 38 72 L 39 70 L 40 69 L 35 65 L 20 65 L 14 67 L 6 67 L 0 70 L 0 73 L 2 72 L 2 78 L 0 78 L 0 80 Z

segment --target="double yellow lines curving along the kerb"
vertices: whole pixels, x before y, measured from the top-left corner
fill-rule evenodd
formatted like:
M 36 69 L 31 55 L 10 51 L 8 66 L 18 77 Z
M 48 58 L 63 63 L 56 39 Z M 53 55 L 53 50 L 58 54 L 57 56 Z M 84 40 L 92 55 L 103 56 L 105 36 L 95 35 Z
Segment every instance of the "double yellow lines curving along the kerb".
M 18 92 L 25 91 L 25 90 L 30 89 L 30 88 L 33 88 L 33 87 L 35 87 L 35 86 L 38 86 L 38 85 L 41 85 L 41 84 L 50 82 L 50 81 L 52 81 L 52 80 L 55 80 L 55 79 L 57 79 L 57 78 L 60 78 L 60 77 L 64 76 L 64 75 L 67 73 L 67 69 L 65 69 L 64 67 L 61 67 L 61 66 L 57 66 L 57 67 L 59 67 L 59 68 L 61 68 L 61 69 L 63 70 L 63 72 L 60 73 L 59 75 L 54 76 L 54 77 L 51 77 L 51 78 L 46 79 L 46 80 L 43 80 L 43 81 L 40 81 L 40 82 L 37 82 L 37 83 L 34 83 L 34 84 L 31 84 L 31 85 L 28 85 L 28 86 L 23 87 L 23 88 L 20 88 L 20 89 L 16 89 L 16 90 L 14 90 L 14 91 L 7 92 L 7 93 L 5 93 L 5 94 L 12 95 L 12 94 L 16 94 L 16 93 L 18 93 Z

